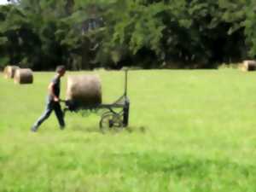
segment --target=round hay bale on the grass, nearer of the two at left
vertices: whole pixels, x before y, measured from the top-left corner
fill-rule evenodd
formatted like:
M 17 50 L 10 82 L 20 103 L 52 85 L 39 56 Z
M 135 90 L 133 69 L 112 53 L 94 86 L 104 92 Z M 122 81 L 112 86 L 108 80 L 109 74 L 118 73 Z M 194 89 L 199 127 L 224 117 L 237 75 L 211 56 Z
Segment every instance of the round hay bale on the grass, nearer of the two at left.
M 15 72 L 15 83 L 16 84 L 32 84 L 33 73 L 30 68 L 20 68 Z

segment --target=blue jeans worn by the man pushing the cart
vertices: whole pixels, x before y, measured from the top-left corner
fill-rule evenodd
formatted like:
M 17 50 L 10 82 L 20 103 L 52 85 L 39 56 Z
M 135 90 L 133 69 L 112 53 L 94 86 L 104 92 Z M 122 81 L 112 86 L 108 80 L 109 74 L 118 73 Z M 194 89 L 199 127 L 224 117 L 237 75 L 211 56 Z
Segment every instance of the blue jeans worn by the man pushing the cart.
M 46 108 L 42 116 L 37 120 L 37 122 L 32 126 L 32 131 L 37 131 L 38 127 L 44 122 L 44 120 L 49 118 L 50 113 L 55 111 L 55 115 L 58 119 L 59 125 L 61 129 L 65 127 L 65 121 L 63 112 L 61 111 L 61 105 L 59 102 L 54 102 L 52 100 L 47 99 Z

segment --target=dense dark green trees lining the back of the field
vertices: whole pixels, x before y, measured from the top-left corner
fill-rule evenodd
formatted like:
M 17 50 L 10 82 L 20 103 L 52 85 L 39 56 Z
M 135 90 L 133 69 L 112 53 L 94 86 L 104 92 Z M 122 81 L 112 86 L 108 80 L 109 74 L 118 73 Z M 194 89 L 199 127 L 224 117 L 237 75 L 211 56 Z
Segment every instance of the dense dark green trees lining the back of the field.
M 0 67 L 217 67 L 256 55 L 253 0 L 10 0 Z

